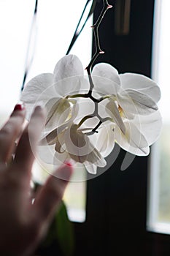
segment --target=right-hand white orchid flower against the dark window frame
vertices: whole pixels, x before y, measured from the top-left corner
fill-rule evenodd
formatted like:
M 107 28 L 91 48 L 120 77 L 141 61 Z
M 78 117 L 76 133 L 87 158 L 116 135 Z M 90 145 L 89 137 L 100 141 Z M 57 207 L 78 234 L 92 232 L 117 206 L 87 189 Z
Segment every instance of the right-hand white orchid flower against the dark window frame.
M 114 67 L 104 63 L 96 64 L 92 74 L 94 94 L 107 98 L 100 103 L 100 112 L 114 121 L 115 141 L 132 154 L 149 154 L 149 146 L 158 139 L 162 127 L 158 85 L 144 75 L 119 75 Z

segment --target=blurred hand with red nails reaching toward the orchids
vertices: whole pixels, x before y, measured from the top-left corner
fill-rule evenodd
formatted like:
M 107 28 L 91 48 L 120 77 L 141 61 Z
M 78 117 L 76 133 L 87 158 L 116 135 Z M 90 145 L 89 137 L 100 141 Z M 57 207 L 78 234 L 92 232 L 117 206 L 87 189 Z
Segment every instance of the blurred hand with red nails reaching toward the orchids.
M 26 110 L 16 105 L 9 121 L 0 130 L 0 255 L 32 255 L 58 208 L 72 167 L 56 172 L 66 180 L 50 176 L 31 200 L 33 152 L 45 121 L 42 108 L 36 107 L 28 126 L 22 130 Z M 29 138 L 34 143 L 29 143 Z M 15 140 L 20 137 L 18 146 Z M 12 154 L 15 158 L 12 160 Z

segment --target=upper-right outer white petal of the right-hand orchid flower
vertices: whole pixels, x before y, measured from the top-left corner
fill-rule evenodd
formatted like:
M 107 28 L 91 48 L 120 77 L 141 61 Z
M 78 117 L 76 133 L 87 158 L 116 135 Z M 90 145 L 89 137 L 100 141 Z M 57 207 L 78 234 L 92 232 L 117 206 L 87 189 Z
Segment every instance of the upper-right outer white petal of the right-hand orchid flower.
M 161 98 L 161 91 L 152 79 L 144 75 L 125 73 L 120 75 L 121 86 L 123 89 L 135 89 L 142 94 L 147 94 L 153 101 L 158 102 Z

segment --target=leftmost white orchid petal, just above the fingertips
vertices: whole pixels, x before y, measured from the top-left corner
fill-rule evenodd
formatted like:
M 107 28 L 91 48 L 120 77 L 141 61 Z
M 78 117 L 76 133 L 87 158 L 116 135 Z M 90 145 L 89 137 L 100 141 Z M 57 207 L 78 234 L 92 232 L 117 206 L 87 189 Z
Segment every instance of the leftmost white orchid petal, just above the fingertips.
M 26 104 L 28 119 L 35 105 L 42 105 L 42 102 L 46 103 L 51 97 L 56 95 L 52 84 L 53 74 L 50 73 L 37 75 L 26 84 L 20 100 Z

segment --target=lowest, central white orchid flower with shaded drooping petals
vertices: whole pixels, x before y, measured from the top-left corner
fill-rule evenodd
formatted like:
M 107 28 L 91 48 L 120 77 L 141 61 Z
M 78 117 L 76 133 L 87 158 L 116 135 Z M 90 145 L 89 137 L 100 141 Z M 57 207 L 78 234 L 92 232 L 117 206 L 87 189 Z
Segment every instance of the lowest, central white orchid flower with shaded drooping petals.
M 75 167 L 78 162 L 84 165 L 89 173 L 96 174 L 97 167 L 107 165 L 104 157 L 107 157 L 115 146 L 115 138 L 111 132 L 113 124 L 102 125 L 98 133 L 88 136 L 88 132 L 96 126 L 97 120 L 90 119 L 79 127 L 74 124 L 79 113 L 77 105 L 74 105 L 72 113 L 72 118 L 67 123 L 53 129 L 41 140 L 40 158 L 55 166 L 60 166 L 70 159 Z

